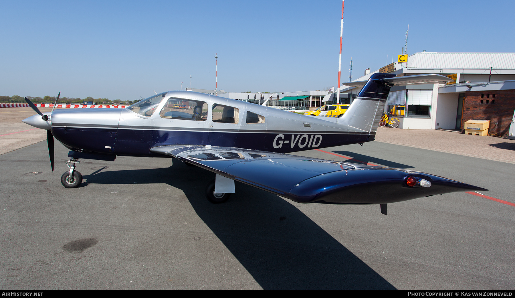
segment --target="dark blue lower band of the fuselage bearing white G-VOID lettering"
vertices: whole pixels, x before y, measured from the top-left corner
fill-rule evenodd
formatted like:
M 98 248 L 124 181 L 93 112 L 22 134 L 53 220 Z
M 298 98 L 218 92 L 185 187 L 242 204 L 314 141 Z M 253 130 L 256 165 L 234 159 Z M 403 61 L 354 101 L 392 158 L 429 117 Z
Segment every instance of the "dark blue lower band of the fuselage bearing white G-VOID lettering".
M 84 152 L 156 156 L 150 148 L 163 145 L 212 145 L 288 153 L 373 141 L 375 133 L 320 131 L 186 131 L 52 127 L 56 139 Z

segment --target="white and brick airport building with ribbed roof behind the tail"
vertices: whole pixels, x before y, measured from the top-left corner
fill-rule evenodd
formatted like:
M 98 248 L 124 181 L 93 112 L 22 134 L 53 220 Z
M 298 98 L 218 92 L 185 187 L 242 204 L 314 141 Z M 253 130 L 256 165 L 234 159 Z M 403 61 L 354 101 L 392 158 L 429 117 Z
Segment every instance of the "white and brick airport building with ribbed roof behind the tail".
M 385 111 L 396 111 L 400 128 L 463 129 L 465 121 L 477 118 L 491 120 L 490 129 L 503 133 L 512 120 L 515 53 L 416 53 L 405 63 L 386 65 L 356 81 L 366 80 L 376 72 L 397 76 L 436 73 L 455 78 L 454 84 L 447 86 L 392 87 Z M 356 89 L 344 85 L 340 92 L 347 93 L 344 98 L 349 98 Z M 487 104 L 490 108 L 485 108 Z M 503 114 L 502 120 L 498 119 L 498 114 Z

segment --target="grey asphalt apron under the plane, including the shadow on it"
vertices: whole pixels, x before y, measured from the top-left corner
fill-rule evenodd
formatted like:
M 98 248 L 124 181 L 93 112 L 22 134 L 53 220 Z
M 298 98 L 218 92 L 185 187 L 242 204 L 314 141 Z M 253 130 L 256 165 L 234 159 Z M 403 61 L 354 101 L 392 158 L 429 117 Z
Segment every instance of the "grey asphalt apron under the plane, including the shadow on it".
M 325 148 L 490 189 L 515 203 L 515 164 L 381 142 Z M 346 158 L 321 151 L 299 155 Z M 513 289 L 515 207 L 459 192 L 379 205 L 298 204 L 171 158 L 83 159 L 46 141 L 0 155 L 0 288 Z M 379 194 L 380 195 L 380 194 Z

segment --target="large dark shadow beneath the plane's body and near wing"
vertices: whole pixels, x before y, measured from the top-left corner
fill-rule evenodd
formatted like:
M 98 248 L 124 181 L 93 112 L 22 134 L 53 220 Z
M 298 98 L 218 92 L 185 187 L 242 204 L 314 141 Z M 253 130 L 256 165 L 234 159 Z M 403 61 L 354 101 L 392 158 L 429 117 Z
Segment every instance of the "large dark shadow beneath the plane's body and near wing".
M 395 289 L 292 204 L 236 183 L 224 204 L 204 189 L 213 173 L 174 159 L 169 168 L 104 171 L 88 184 L 165 183 L 181 189 L 198 216 L 264 289 Z

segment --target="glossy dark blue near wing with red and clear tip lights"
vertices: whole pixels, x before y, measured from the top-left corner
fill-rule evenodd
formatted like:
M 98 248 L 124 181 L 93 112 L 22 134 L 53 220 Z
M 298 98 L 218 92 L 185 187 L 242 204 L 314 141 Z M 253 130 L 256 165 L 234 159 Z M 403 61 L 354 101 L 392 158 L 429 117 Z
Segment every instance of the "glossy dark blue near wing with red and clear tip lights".
M 150 149 L 299 203 L 386 204 L 458 191 L 487 191 L 421 172 L 233 147 Z M 407 181 L 413 177 L 414 186 Z M 417 181 L 424 179 L 422 187 Z M 430 185 L 427 187 L 427 185 Z

